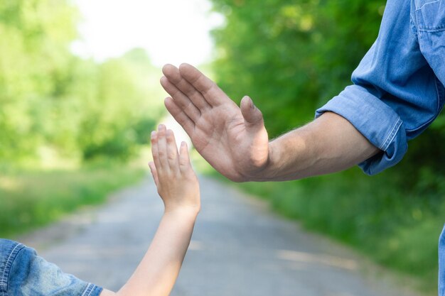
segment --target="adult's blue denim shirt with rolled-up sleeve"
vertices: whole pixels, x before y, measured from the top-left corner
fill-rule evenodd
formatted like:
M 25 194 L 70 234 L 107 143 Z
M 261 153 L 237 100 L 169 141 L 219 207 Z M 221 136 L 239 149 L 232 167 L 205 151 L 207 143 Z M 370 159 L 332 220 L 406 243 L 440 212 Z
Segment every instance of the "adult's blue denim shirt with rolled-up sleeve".
M 407 141 L 444 106 L 445 0 L 388 0 L 377 40 L 352 81 L 316 116 L 326 111 L 343 116 L 382 150 L 359 164 L 372 175 L 398 163 Z M 445 296 L 443 233 L 439 265 L 439 296 Z

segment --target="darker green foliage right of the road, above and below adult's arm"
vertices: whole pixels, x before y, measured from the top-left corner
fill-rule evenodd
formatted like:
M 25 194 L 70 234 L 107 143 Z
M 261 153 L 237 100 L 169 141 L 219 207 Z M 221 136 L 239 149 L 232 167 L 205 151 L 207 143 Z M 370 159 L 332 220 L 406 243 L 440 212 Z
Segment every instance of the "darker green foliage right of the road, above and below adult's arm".
M 350 84 L 377 37 L 383 0 L 212 0 L 225 26 L 213 32 L 220 86 L 239 102 L 249 94 L 269 136 L 301 126 Z M 241 185 L 381 263 L 436 278 L 445 211 L 445 116 L 410 143 L 395 168 L 375 176 L 354 168 L 298 182 Z

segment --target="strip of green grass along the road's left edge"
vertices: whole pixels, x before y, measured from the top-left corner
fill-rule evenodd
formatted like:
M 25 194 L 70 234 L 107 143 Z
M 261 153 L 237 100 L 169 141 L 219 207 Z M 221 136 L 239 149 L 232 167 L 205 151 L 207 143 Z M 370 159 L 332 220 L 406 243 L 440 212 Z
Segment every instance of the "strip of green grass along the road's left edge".
M 110 192 L 141 180 L 139 168 L 107 165 L 80 170 L 11 171 L 0 174 L 0 237 L 57 221 Z

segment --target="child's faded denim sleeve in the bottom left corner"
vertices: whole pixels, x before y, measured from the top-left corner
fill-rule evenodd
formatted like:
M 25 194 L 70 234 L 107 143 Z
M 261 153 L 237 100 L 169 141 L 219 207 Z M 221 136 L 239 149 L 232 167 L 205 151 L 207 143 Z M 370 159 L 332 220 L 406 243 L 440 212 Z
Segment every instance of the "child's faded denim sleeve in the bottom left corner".
M 32 248 L 0 239 L 0 296 L 99 296 L 101 287 L 62 273 Z

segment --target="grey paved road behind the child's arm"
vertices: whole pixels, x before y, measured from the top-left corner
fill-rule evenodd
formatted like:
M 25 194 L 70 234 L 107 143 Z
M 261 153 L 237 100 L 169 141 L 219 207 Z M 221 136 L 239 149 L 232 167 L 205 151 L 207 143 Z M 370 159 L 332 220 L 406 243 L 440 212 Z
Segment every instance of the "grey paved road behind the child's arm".
M 200 180 L 203 209 L 173 296 L 414 296 L 393 288 L 386 274 L 347 248 L 270 213 L 259 200 Z M 65 272 L 118 290 L 145 253 L 161 212 L 147 179 L 100 208 L 20 239 Z

